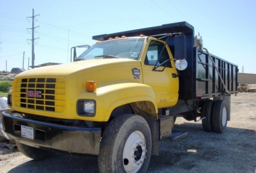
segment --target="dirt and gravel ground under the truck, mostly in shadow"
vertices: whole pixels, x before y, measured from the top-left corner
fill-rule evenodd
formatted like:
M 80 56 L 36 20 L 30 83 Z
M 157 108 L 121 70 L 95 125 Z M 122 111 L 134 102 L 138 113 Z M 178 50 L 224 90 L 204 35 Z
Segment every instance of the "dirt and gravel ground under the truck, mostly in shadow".
M 231 97 L 231 121 L 223 134 L 209 133 L 201 122 L 177 118 L 176 130 L 188 131 L 177 141 L 160 142 L 147 172 L 256 172 L 256 93 Z M 0 148 L 0 172 L 98 172 L 97 157 L 56 155 L 34 161 L 19 151 Z

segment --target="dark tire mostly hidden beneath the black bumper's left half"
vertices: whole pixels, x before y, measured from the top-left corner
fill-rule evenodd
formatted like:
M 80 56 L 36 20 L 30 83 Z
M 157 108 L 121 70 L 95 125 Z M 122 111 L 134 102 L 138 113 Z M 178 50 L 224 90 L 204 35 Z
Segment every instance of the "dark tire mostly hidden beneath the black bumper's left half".
M 30 157 L 34 160 L 43 160 L 53 155 L 52 152 L 44 151 L 39 148 L 35 148 L 29 145 L 21 144 L 20 142 L 16 141 L 17 148 L 23 155 Z

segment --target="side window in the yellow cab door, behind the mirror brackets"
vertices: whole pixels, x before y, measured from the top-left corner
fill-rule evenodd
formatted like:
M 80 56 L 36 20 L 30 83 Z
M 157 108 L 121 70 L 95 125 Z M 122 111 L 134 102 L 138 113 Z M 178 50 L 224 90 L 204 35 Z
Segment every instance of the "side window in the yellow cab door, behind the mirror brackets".
M 147 56 L 145 58 L 145 65 L 154 66 L 157 61 L 158 61 L 158 63 L 156 65 L 160 65 L 167 59 L 170 59 L 168 51 L 166 50 L 166 47 L 164 47 L 164 49 L 163 49 L 163 47 L 164 47 L 163 43 L 155 41 L 155 40 L 151 40 L 151 42 L 149 43 Z M 162 49 L 163 49 L 162 55 L 159 57 Z M 167 65 L 166 65 L 166 63 L 167 63 Z M 166 65 L 166 67 L 171 67 L 170 61 L 167 61 L 166 63 L 163 63 L 160 66 Z

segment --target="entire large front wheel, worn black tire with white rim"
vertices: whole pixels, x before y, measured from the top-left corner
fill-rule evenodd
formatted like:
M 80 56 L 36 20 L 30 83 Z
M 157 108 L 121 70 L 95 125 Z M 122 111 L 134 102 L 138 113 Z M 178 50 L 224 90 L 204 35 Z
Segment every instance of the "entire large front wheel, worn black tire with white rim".
M 100 172 L 146 172 L 151 156 L 151 133 L 147 121 L 138 115 L 113 119 L 100 144 Z

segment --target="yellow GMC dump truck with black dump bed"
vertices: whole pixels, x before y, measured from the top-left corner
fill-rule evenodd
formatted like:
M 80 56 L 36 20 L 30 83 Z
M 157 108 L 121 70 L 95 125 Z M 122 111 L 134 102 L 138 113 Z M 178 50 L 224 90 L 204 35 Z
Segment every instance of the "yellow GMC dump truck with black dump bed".
M 209 53 L 187 22 L 93 36 L 72 62 L 14 78 L 3 130 L 35 160 L 98 155 L 100 172 L 145 172 L 175 118 L 223 133 L 237 66 Z M 76 49 L 87 48 L 78 57 Z

